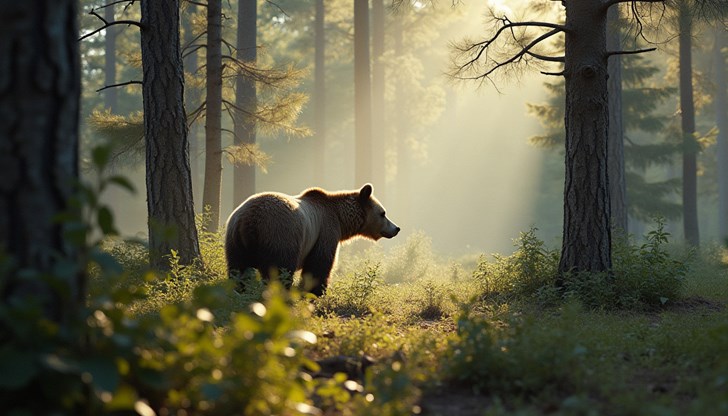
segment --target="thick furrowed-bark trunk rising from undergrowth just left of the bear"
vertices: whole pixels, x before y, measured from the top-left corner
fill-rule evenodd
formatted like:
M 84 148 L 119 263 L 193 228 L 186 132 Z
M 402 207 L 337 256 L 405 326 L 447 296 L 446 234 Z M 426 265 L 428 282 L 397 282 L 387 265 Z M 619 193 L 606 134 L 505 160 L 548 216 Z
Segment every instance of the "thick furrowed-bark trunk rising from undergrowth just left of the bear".
M 176 250 L 182 264 L 199 258 L 192 200 L 179 1 L 141 2 L 149 260 L 166 270 Z

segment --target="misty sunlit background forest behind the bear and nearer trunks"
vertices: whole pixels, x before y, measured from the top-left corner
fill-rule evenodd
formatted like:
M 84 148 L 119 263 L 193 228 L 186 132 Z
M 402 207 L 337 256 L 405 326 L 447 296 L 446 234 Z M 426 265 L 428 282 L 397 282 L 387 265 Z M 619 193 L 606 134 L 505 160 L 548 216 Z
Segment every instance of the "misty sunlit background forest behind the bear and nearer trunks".
M 86 11 L 99 4 L 83 2 Z M 257 125 L 258 149 L 255 190 L 277 190 L 296 194 L 310 186 L 325 189 L 352 189 L 355 183 L 352 160 L 354 149 L 354 64 L 353 9 L 347 2 L 326 4 L 324 16 L 324 80 L 322 96 L 315 92 L 315 12 L 313 2 L 263 2 L 258 8 L 258 66 L 263 71 L 285 73 L 280 85 L 258 82 L 260 100 L 278 120 Z M 559 84 L 536 72 L 518 75 L 518 82 L 503 80 L 491 85 L 455 82 L 446 75 L 450 66 L 449 44 L 478 33 L 485 9 L 463 3 L 413 3 L 396 11 L 386 5 L 383 12 L 382 47 L 372 58 L 374 68 L 383 71 L 381 92 L 374 105 L 378 121 L 373 145 L 375 193 L 402 223 L 405 233 L 422 230 L 433 238 L 438 251 L 466 254 L 473 251 L 506 252 L 518 232 L 537 226 L 546 241 L 556 242 L 561 235 L 560 194 L 563 187 L 563 162 L 557 138 L 544 139 L 544 129 L 558 131 L 563 110 Z M 182 14 L 183 38 L 189 43 L 186 54 L 190 102 L 205 100 L 204 32 L 205 10 L 187 5 Z M 510 6 L 518 10 L 517 5 Z M 122 11 L 125 15 L 122 15 Z M 223 39 L 230 55 L 236 36 L 236 2 L 224 4 Z M 134 7 L 119 8 L 118 19 L 136 17 Z M 83 15 L 82 32 L 99 27 L 101 22 Z M 374 24 L 374 23 L 372 23 Z M 625 25 L 628 27 L 628 25 Z M 663 24 L 664 33 L 656 37 L 658 51 L 625 60 L 626 152 L 629 171 L 629 231 L 639 235 L 644 224 L 655 215 L 670 220 L 668 229 L 681 238 L 679 103 L 677 78 L 678 52 L 675 28 Z M 108 79 L 105 69 L 109 47 L 102 34 L 82 43 L 84 73 L 85 137 L 89 143 L 103 137 L 113 138 L 119 156 L 115 169 L 128 173 L 137 185 L 143 183 L 143 158 L 140 148 L 141 89 L 138 85 L 99 88 L 140 78 L 138 30 L 115 26 L 112 56 L 116 75 Z M 188 33 L 189 32 L 189 33 Z M 719 235 L 717 208 L 718 173 L 716 167 L 716 113 L 714 97 L 716 54 L 710 25 L 698 25 L 696 36 L 706 42 L 694 54 L 694 81 L 697 103 L 697 131 L 701 143 L 698 167 L 698 197 L 701 238 L 716 241 Z M 202 35 L 200 37 L 199 35 Z M 635 42 L 630 33 L 627 41 Z M 196 39 L 196 40 L 195 40 Z M 630 40 L 631 39 L 631 40 Z M 672 40 L 671 40 L 672 39 Z M 374 42 L 374 38 L 372 38 Z M 642 41 L 644 43 L 644 41 Z M 373 52 L 374 53 L 374 52 Z M 228 75 L 223 95 L 229 103 L 234 97 L 234 70 L 225 63 Z M 194 69 L 192 69 L 192 68 Z M 105 74 L 105 76 L 102 76 Z M 477 88 L 476 88 L 477 87 Z M 373 90 L 374 92 L 375 90 Z M 115 97 L 115 98 L 114 98 Z M 190 98 L 194 97 L 194 98 Z M 373 98 L 374 99 L 374 98 Z M 109 100 L 115 101 L 111 104 Z M 321 110 L 316 110 L 323 101 Z M 409 105 L 403 105 L 408 103 Z M 416 105 L 412 105 L 416 104 Z M 283 110 L 276 105 L 285 106 Z M 191 165 L 195 207 L 202 210 L 205 181 L 205 114 L 194 113 L 198 106 L 188 105 L 193 120 L 190 130 Z M 113 108 L 113 119 L 91 117 L 94 111 Z M 228 111 L 231 108 L 228 106 Z M 323 112 L 317 121 L 316 112 Z M 377 115 L 379 114 L 379 115 Z M 320 123 L 321 127 L 317 127 Z M 233 122 L 222 117 L 222 222 L 244 199 L 233 192 Z M 553 133 L 548 133 L 553 134 Z M 119 140 L 120 139 L 120 140 Z M 322 144 L 323 143 L 323 144 Z M 536 146 L 534 146 L 536 144 Z M 544 145 L 544 146 L 538 146 Z M 321 146 L 321 147 L 319 147 Z M 554 150 L 542 147 L 553 147 Z M 240 152 L 238 152 L 240 153 Z M 239 154 L 237 156 L 240 156 Z M 255 159 L 255 157 L 253 157 Z M 242 158 L 241 163 L 253 162 Z M 458 186 L 451 186 L 456 183 Z M 137 189 L 140 189 L 137 186 Z M 517 190 L 514 192 L 514 190 Z M 144 233 L 145 204 L 139 198 L 124 199 L 120 229 L 126 235 Z M 110 198 L 115 197 L 114 194 Z M 115 205 L 115 202 L 112 202 Z M 457 207 L 457 215 L 443 217 Z M 407 235 L 405 234 L 405 235 Z

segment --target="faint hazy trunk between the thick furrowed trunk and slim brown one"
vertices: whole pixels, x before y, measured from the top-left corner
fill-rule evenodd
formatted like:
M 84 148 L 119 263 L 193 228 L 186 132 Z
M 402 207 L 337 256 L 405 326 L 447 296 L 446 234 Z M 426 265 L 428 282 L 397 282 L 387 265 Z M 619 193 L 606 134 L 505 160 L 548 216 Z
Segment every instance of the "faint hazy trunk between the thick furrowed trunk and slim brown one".
M 189 74 L 195 74 L 198 66 L 197 51 L 194 51 L 192 45 L 195 33 L 192 27 L 192 17 L 197 13 L 197 5 L 187 3 L 187 12 L 182 19 L 182 27 L 184 28 L 184 45 L 189 47 L 191 52 L 187 53 L 184 58 L 184 69 Z M 182 51 L 186 53 L 186 51 Z M 200 90 L 197 88 L 185 89 L 185 108 L 187 113 L 195 111 L 201 104 Z M 192 123 L 188 132 L 190 142 L 190 172 L 192 176 L 192 195 L 196 201 L 202 201 L 202 186 L 200 181 L 200 126 L 199 123 Z M 201 207 L 200 207 L 201 208 Z

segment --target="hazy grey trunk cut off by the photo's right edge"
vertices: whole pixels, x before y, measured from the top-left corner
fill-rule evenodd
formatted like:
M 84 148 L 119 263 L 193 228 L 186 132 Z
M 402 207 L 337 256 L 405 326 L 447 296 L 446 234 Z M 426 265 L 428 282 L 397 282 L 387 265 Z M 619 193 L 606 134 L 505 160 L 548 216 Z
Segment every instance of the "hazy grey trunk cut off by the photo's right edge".
M 718 126 L 718 232 L 722 241 L 728 239 L 728 82 L 726 82 L 725 56 L 728 47 L 726 32 L 715 29 L 713 60 L 715 64 L 715 124 Z

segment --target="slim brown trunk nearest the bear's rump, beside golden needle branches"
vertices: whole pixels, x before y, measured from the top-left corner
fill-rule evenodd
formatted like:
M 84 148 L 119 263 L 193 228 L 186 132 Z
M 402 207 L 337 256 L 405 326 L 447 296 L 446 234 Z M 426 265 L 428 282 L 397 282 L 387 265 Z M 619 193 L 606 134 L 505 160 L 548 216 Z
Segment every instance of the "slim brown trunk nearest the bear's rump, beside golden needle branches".
M 216 231 L 220 225 L 222 184 L 222 2 L 207 2 L 207 96 L 205 101 L 205 188 L 202 206 L 208 211 L 206 227 Z

